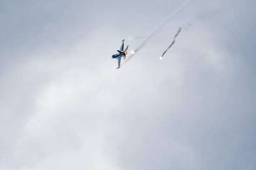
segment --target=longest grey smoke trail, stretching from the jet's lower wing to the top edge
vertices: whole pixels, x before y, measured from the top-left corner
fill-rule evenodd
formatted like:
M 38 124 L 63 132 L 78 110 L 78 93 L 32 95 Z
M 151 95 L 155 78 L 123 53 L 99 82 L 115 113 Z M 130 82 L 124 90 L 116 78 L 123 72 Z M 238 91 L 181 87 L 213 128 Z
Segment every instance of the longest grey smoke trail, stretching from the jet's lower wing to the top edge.
M 144 40 L 141 45 L 134 50 L 134 54 L 130 55 L 124 62 L 122 62 L 120 64 L 120 67 L 122 67 L 122 65 L 124 65 L 126 62 L 128 62 L 129 60 L 131 60 L 133 58 L 134 55 L 136 55 L 136 53 L 141 49 L 141 47 L 143 47 L 145 45 L 145 43 L 153 36 L 155 35 L 166 23 L 169 22 L 169 20 L 171 20 L 172 18 L 174 18 L 175 15 L 177 15 L 179 12 L 181 12 L 187 5 L 189 5 L 189 3 L 192 0 L 189 0 L 187 3 L 185 3 L 184 5 L 182 5 L 181 7 L 178 8 L 178 10 L 176 10 L 162 25 L 160 25 L 158 28 L 156 28 L 156 30 L 154 32 L 151 33 L 151 35 L 149 35 L 146 40 Z

